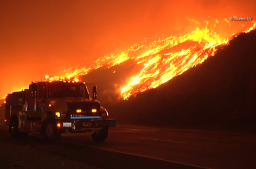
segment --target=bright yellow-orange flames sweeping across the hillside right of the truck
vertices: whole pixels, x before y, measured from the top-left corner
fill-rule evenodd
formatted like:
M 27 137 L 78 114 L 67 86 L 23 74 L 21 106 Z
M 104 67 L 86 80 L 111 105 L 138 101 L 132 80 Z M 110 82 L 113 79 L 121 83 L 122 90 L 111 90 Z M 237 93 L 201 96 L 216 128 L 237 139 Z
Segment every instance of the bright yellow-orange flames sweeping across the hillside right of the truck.
M 80 68 L 64 70 L 61 74 L 66 77 L 80 76 L 105 65 L 110 68 L 127 60 L 134 60 L 142 69 L 129 77 L 125 84 L 120 84 L 119 88 L 121 97 L 127 99 L 131 95 L 156 88 L 186 70 L 201 64 L 209 56 L 214 56 L 217 47 L 225 46 L 237 36 L 233 34 L 232 37 L 220 37 L 216 32 L 207 28 L 208 24 L 209 22 L 206 23 L 205 28 L 196 28 L 182 36 L 145 39 L 125 49 L 113 51 L 98 60 L 87 61 L 83 66 L 78 66 Z M 256 23 L 243 32 L 252 31 L 255 27 Z M 185 47 L 185 43 L 189 43 L 190 46 Z

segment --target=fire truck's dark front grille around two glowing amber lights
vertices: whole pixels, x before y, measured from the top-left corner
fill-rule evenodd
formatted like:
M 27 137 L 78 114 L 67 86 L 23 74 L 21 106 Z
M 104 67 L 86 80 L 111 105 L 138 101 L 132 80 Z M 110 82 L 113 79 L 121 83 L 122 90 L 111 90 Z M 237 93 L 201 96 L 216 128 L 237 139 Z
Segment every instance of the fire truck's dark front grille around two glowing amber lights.
M 68 113 L 71 117 L 100 116 L 99 102 L 67 102 Z M 92 112 L 96 109 L 97 112 Z M 81 110 L 77 113 L 76 110 Z

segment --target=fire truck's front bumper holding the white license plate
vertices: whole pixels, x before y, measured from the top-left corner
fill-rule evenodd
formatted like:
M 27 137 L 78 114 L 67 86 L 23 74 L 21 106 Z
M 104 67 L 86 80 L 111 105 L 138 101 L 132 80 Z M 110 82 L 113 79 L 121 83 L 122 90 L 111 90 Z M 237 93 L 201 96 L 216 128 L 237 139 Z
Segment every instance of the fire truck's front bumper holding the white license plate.
M 69 132 L 82 132 L 89 129 L 116 127 L 116 119 L 58 121 L 58 128 Z

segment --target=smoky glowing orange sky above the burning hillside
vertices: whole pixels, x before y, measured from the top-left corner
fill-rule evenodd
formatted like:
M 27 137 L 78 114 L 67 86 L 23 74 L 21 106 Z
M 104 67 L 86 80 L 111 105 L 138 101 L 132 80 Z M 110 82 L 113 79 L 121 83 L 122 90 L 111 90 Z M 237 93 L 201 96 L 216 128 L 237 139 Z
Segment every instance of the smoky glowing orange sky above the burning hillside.
M 0 1 L 0 97 L 123 44 L 205 27 L 227 37 L 251 26 L 255 1 Z

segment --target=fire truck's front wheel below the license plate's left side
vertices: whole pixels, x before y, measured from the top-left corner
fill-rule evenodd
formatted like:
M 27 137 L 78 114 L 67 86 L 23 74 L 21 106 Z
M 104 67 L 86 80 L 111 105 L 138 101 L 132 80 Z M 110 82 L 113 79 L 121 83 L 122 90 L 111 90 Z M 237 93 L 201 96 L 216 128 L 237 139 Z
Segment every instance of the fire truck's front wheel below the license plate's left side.
M 57 131 L 53 123 L 46 124 L 45 138 L 48 144 L 60 141 L 61 132 Z

